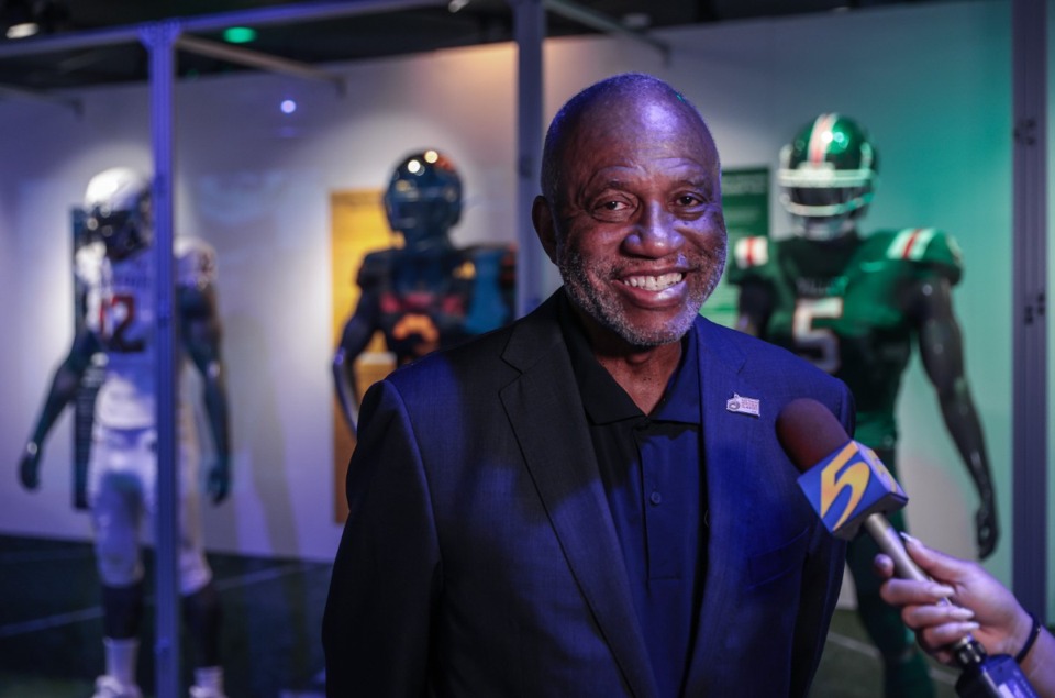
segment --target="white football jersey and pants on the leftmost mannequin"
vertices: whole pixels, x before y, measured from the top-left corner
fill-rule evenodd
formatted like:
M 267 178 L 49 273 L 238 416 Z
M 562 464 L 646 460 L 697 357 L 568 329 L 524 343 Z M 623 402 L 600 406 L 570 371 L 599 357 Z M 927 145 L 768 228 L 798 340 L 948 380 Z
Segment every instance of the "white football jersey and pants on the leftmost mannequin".
M 86 323 L 107 350 L 106 379 L 96 399 L 88 499 L 100 576 L 104 584 L 126 586 L 143 577 L 138 536 L 143 518 L 156 509 L 154 264 L 148 248 L 113 261 L 100 255 L 100 247 L 86 247 L 76 264 L 87 288 Z M 208 244 L 177 239 L 174 254 L 177 287 L 214 282 L 215 258 Z M 177 369 L 182 375 L 187 368 L 188 359 L 180 354 Z M 176 432 L 180 592 L 187 595 L 208 584 L 212 573 L 198 521 L 200 450 L 182 390 Z

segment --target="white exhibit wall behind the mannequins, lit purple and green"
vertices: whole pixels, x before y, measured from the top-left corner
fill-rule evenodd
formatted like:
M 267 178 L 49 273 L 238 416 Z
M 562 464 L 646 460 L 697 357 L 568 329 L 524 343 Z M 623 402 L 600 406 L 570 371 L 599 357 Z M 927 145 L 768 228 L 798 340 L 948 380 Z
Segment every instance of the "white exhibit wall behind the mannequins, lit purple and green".
M 622 70 L 669 79 L 700 107 L 726 166 L 776 167 L 779 147 L 822 111 L 874 135 L 880 182 L 865 228 L 936 225 L 956 235 L 967 368 L 996 470 L 1009 573 L 1010 25 L 1004 3 L 939 3 L 658 32 L 669 62 L 626 38 L 551 41 L 548 120 L 580 87 Z M 234 441 L 234 491 L 206 507 L 219 551 L 326 559 L 332 520 L 329 196 L 381 187 L 407 152 L 446 151 L 466 182 L 455 242 L 514 239 L 515 52 L 510 45 L 341 66 L 348 90 L 269 75 L 177 89 L 177 234 L 219 252 Z M 0 453 L 13 466 L 70 339 L 68 209 L 112 164 L 149 164 L 145 86 L 84 92 L 85 115 L 0 103 L 0 310 L 16 342 L 0 358 Z M 278 111 L 282 98 L 299 109 Z M 773 230 L 787 221 L 771 202 Z M 548 274 L 547 288 L 556 285 Z M 970 555 L 974 489 L 918 359 L 901 400 L 901 480 L 924 540 Z M 87 538 L 69 508 L 69 419 L 52 434 L 44 483 L 0 488 L 0 531 Z

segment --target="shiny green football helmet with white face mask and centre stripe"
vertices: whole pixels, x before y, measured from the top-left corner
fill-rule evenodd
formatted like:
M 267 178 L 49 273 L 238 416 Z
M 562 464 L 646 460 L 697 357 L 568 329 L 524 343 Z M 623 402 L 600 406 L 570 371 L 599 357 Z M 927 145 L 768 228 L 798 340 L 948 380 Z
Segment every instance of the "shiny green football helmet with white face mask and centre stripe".
M 780 202 L 796 233 L 832 240 L 854 230 L 874 196 L 877 154 L 853 119 L 821 114 L 780 149 Z

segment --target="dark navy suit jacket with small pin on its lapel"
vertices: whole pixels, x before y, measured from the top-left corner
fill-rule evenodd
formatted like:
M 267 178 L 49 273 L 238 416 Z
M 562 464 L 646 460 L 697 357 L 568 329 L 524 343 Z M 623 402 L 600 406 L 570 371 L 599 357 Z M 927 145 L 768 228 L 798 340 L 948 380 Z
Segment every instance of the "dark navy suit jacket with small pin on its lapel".
M 560 293 L 563 291 L 558 291 Z M 370 388 L 323 621 L 332 698 L 657 698 L 556 295 Z M 804 696 L 843 573 L 775 420 L 845 386 L 699 319 L 709 530 L 686 696 Z M 757 417 L 726 409 L 759 400 Z

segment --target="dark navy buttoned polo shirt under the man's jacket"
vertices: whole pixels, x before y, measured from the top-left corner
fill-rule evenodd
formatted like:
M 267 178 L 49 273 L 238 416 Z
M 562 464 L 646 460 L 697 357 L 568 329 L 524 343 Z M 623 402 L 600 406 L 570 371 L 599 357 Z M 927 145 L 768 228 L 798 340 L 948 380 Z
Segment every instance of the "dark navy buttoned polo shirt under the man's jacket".
M 560 324 L 586 408 L 637 618 L 659 695 L 681 695 L 706 569 L 706 481 L 696 329 L 681 364 L 645 414 L 598 363 L 573 310 Z

